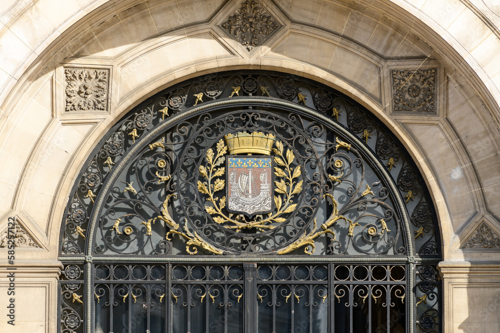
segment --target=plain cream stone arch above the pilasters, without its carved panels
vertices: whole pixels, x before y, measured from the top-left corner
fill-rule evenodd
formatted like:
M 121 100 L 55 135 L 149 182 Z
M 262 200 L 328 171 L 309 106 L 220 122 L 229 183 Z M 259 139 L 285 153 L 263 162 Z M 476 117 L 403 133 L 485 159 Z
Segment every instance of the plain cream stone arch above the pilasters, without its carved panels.
M 304 8 L 296 1 L 261 1 L 283 28 L 251 55 L 222 30 L 210 28 L 210 18 L 220 18 L 216 22 L 220 23 L 239 2 L 198 1 L 189 7 L 188 2 L 192 1 L 177 1 L 175 10 L 179 10 L 177 17 L 182 20 L 167 16 L 165 22 L 171 25 L 163 26 L 152 18 L 154 10 L 148 13 L 149 8 L 161 7 L 153 2 L 71 1 L 57 13 L 45 0 L 6 2 L 12 7 L 1 16 L 4 26 L 0 38 L 5 52 L 0 74 L 1 168 L 7 172 L 0 176 L 0 227 L 3 230 L 7 217 L 17 215 L 28 234 L 48 249 L 26 252 L 26 260 L 36 258 L 45 260 L 47 265 L 57 265 L 57 224 L 70 184 L 93 144 L 119 115 L 154 92 L 212 72 L 215 67 L 297 73 L 355 98 L 393 128 L 425 175 L 441 222 L 444 258 L 494 259 L 490 250 L 462 248 L 483 223 L 493 235 L 499 232 L 500 204 L 495 200 L 495 191 L 500 97 L 493 55 L 499 53 L 500 46 L 494 28 L 495 8 L 488 7 L 488 2 L 472 5 L 469 1 L 304 1 Z M 165 6 L 173 8 L 173 3 Z M 219 6 L 218 14 L 213 15 Z M 320 14 L 316 15 L 312 9 L 318 8 Z M 331 23 L 324 17 L 335 17 L 330 21 L 339 25 L 328 25 Z M 347 23 L 354 22 L 359 24 L 357 30 L 349 25 L 350 30 L 344 31 Z M 472 38 L 461 28 L 469 26 L 463 22 L 474 22 Z M 137 32 L 130 29 L 133 26 L 145 26 L 138 31 L 145 34 L 130 34 Z M 365 27 L 367 36 L 360 26 Z M 149 34 L 147 27 L 152 31 Z M 206 37 L 196 37 L 200 35 Z M 198 52 L 199 58 L 169 69 L 155 66 L 154 62 L 138 63 L 146 58 L 145 54 L 160 53 L 159 43 L 174 41 L 175 49 L 182 49 L 177 46 L 184 43 L 185 54 Z M 297 48 L 286 53 L 287 46 L 283 49 L 280 43 Z M 201 44 L 203 47 L 196 48 Z M 408 45 L 399 50 L 408 53 L 396 54 L 399 45 Z M 89 51 L 78 54 L 85 46 Z M 120 47 L 123 48 L 116 52 Z M 384 54 L 377 47 L 393 51 Z M 218 53 L 203 53 L 206 49 Z M 342 57 L 333 61 L 336 67 L 330 68 L 320 55 L 335 52 Z M 163 58 L 178 58 L 172 54 L 175 52 L 166 52 Z M 352 64 L 354 67 L 349 67 Z M 64 66 L 108 70 L 109 109 L 65 115 Z M 424 67 L 436 68 L 439 73 L 436 116 L 392 112 L 390 71 Z M 352 68 L 348 75 L 339 72 L 345 68 Z M 366 68 L 379 73 L 368 84 L 363 76 Z M 144 77 L 146 72 L 149 75 L 148 70 L 161 75 Z M 135 79 L 127 79 L 126 75 Z M 377 80 L 378 99 L 373 97 L 376 89 L 371 89 L 370 84 Z M 446 163 L 440 163 L 441 158 Z

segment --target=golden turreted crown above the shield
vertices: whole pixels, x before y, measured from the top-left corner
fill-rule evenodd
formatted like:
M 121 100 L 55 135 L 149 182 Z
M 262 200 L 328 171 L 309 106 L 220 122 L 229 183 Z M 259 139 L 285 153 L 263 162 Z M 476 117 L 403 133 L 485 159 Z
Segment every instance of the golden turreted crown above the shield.
M 270 155 L 275 136 L 262 132 L 238 132 L 224 135 L 225 144 L 230 155 L 260 154 Z

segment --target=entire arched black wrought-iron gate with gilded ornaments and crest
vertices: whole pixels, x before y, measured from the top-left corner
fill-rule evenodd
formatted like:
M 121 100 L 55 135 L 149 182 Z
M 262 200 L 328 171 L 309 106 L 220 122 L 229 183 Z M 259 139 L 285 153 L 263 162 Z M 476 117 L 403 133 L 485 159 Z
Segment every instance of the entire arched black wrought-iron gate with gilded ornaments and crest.
M 85 295 L 64 271 L 61 332 L 439 330 L 421 177 L 326 86 L 258 71 L 187 81 L 119 121 L 79 179 L 59 258 L 85 267 Z

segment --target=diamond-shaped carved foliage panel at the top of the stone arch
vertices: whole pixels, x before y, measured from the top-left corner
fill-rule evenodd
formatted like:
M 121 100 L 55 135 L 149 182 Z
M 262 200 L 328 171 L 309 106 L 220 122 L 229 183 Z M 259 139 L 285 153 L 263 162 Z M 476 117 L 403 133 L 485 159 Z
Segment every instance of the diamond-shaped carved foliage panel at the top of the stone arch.
M 241 7 L 222 23 L 222 28 L 248 51 L 261 45 L 278 27 L 279 24 L 254 0 L 241 3 Z

